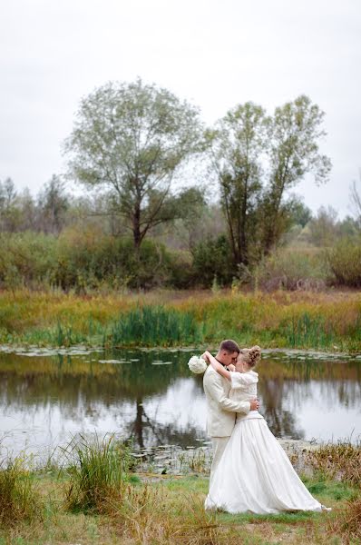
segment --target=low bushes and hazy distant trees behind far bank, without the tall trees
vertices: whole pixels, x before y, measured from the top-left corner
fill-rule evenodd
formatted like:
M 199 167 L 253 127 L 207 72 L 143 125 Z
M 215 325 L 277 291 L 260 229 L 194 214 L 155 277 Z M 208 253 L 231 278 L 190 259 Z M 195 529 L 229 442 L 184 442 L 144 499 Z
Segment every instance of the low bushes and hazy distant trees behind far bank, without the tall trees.
M 259 262 L 237 268 L 220 204 L 207 203 L 192 191 L 199 197 L 192 219 L 158 226 L 136 253 L 125 227 L 114 232 L 112 215 L 101 213 L 101 196 L 72 198 L 55 179 L 44 188 L 42 200 L 29 193 L 24 199 L 24 193 L 14 190 L 11 206 L 0 209 L 0 286 L 90 292 L 361 285 L 361 237 L 355 220 L 337 222 L 335 213 L 325 209 L 312 217 L 306 206 L 298 206 L 278 247 Z

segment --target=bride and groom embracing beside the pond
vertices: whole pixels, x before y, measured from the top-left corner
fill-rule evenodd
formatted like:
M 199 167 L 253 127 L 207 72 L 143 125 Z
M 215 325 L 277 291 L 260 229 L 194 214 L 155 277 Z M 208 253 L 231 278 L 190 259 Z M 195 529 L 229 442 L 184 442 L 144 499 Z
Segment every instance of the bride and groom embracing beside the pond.
M 253 370 L 259 346 L 239 349 L 223 341 L 209 362 L 203 386 L 207 398 L 207 432 L 213 446 L 210 490 L 206 509 L 229 513 L 278 513 L 287 510 L 327 510 L 311 496 L 288 456 L 259 413 Z

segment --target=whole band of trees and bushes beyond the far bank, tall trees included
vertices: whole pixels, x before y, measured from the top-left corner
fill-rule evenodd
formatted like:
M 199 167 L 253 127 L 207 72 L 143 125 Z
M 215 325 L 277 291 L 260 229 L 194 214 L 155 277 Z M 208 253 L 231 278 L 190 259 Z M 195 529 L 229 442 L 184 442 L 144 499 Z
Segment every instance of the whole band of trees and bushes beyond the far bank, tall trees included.
M 301 95 L 272 115 L 238 104 L 207 128 L 197 108 L 141 80 L 96 89 L 65 142 L 66 178 L 37 197 L 0 181 L 0 285 L 360 286 L 356 184 L 342 222 L 290 193 L 307 173 L 327 182 L 323 118 Z

